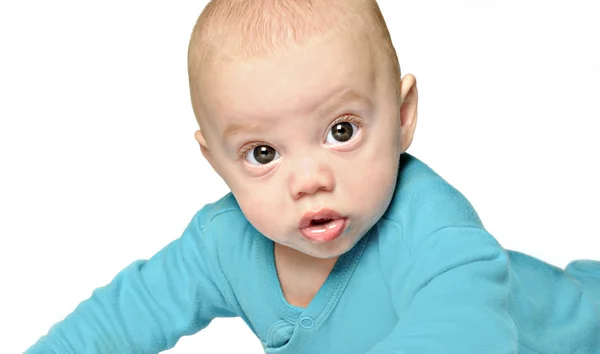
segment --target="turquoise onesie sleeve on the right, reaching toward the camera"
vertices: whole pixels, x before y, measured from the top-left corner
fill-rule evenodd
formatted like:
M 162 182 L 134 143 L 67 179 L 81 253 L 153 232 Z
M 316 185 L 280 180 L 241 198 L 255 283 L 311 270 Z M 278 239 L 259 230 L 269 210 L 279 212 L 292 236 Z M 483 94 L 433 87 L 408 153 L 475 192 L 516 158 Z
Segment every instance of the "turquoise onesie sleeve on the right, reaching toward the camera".
M 397 263 L 389 290 L 399 320 L 369 354 L 517 352 L 508 257 L 486 231 L 443 228 Z

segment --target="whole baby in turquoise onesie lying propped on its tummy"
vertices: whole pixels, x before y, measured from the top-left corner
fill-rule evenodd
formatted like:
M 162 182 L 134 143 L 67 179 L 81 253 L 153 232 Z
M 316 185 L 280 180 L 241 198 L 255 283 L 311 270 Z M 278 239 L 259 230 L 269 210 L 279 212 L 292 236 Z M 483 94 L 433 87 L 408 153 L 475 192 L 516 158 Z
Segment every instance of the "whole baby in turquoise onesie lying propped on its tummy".
M 600 353 L 600 262 L 504 250 L 406 153 L 416 81 L 374 0 L 213 0 L 189 82 L 231 193 L 27 353 L 157 353 L 217 317 L 267 353 Z

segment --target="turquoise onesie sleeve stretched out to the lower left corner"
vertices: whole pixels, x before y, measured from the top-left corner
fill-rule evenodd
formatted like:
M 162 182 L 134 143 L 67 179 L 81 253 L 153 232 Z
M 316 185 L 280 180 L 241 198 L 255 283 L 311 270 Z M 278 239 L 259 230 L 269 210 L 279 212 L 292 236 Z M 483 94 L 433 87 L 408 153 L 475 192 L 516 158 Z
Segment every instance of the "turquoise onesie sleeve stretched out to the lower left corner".
M 198 214 L 179 239 L 123 269 L 25 353 L 158 353 L 216 317 L 234 317 L 217 243 Z

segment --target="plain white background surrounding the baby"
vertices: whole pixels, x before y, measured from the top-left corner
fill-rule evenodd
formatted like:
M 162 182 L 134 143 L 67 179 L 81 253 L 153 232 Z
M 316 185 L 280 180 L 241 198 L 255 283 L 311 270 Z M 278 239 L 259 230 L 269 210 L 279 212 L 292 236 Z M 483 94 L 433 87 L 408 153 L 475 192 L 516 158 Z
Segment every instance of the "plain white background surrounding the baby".
M 24 351 L 91 291 L 227 192 L 186 78 L 206 1 L 0 3 L 0 337 Z M 381 1 L 417 77 L 414 155 L 509 249 L 600 259 L 593 1 Z M 215 320 L 173 353 L 261 353 Z

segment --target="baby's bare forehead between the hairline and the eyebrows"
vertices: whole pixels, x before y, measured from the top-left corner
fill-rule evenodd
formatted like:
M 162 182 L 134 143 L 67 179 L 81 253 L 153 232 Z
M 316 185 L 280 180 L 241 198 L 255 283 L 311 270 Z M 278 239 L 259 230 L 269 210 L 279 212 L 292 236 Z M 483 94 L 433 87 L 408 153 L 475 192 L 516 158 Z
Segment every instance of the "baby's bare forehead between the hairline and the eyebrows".
M 281 55 L 208 65 L 199 95 L 205 114 L 216 117 L 323 115 L 325 101 L 367 100 L 376 62 L 368 48 L 331 39 Z

